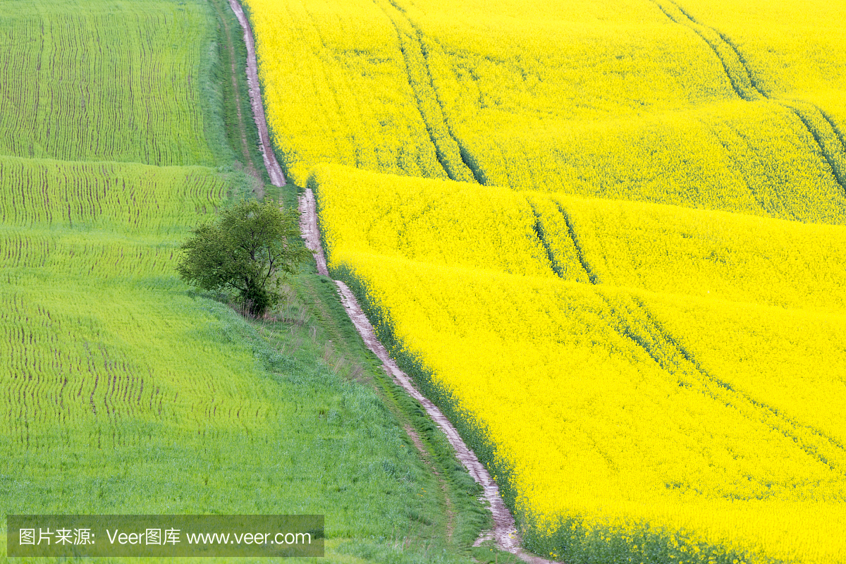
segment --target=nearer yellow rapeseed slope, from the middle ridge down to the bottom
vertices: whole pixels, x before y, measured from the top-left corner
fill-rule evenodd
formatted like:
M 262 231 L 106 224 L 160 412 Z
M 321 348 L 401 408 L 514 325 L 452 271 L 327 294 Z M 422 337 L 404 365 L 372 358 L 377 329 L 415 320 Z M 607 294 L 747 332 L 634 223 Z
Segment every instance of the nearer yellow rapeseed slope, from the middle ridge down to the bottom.
M 343 167 L 310 186 L 331 270 L 533 548 L 842 561 L 846 228 Z

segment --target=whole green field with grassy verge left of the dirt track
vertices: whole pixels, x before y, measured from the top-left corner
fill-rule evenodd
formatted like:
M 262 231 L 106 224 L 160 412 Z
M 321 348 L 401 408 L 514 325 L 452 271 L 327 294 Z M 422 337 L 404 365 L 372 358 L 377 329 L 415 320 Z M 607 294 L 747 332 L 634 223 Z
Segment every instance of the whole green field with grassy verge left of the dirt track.
M 479 492 L 313 264 L 264 321 L 176 276 L 190 227 L 264 190 L 228 5 L 9 4 L 0 516 L 321 513 L 327 561 L 468 561 Z

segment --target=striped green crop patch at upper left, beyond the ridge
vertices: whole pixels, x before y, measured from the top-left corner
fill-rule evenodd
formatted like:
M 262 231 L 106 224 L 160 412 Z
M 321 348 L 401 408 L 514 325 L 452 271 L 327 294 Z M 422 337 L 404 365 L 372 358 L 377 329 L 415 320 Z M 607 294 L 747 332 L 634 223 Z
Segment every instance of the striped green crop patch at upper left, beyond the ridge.
M 27 0 L 0 14 L 0 155 L 215 163 L 203 135 L 204 8 Z M 193 80 L 192 80 L 193 78 Z

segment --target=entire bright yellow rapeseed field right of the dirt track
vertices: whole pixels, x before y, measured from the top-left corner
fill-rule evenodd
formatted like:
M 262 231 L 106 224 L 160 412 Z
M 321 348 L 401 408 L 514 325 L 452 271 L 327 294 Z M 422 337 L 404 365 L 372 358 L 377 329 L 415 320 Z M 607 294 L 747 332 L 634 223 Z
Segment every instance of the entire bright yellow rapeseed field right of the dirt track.
M 846 562 L 842 5 L 244 3 L 330 271 L 527 546 Z

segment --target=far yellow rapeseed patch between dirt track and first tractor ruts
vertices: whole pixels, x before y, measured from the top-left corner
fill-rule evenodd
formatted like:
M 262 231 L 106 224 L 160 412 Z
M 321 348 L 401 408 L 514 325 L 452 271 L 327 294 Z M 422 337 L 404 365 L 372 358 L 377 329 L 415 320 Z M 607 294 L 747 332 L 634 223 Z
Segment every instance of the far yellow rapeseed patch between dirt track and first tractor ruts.
M 294 183 L 305 183 L 317 162 L 447 178 L 397 33 L 376 4 L 244 4 L 255 29 L 267 123 Z

